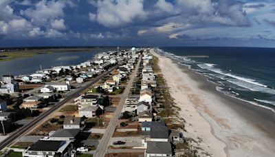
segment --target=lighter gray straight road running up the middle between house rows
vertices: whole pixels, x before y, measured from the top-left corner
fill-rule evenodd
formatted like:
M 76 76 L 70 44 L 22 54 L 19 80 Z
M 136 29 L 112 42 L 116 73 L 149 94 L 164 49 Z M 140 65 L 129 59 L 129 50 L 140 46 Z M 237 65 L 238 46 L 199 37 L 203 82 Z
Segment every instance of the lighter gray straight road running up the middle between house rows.
M 106 154 L 106 150 L 108 149 L 108 145 L 109 145 L 111 136 L 113 135 L 113 132 L 115 132 L 115 125 L 118 124 L 118 118 L 122 111 L 124 102 L 130 92 L 131 86 L 135 79 L 135 75 L 137 74 L 137 70 L 140 66 L 141 59 L 142 58 L 140 56 L 140 59 L 137 62 L 137 66 L 135 66 L 135 70 L 133 71 L 132 77 L 131 77 L 130 81 L 128 82 L 128 85 L 125 87 L 123 94 L 121 95 L 120 103 L 118 103 L 118 107 L 116 107 L 116 109 L 115 109 L 113 118 L 111 118 L 111 121 L 110 121 L 109 125 L 107 126 L 107 129 L 100 140 L 98 148 L 96 149 L 96 153 L 94 154 L 94 156 L 96 156 L 96 157 L 103 157 Z

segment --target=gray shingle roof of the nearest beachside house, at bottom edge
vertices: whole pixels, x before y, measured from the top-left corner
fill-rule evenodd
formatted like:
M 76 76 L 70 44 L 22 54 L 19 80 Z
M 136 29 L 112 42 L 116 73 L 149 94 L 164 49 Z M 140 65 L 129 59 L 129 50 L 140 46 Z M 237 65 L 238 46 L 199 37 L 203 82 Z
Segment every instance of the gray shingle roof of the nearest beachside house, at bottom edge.
M 146 153 L 172 155 L 173 152 L 172 152 L 171 144 L 169 142 L 148 141 Z

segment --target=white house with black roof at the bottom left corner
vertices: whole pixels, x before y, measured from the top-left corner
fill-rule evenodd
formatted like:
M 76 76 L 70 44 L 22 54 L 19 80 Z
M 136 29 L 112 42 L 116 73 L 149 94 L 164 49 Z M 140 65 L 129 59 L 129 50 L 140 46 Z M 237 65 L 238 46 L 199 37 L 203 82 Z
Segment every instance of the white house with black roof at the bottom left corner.
M 70 140 L 38 140 L 22 152 L 22 156 L 70 156 L 72 144 Z

